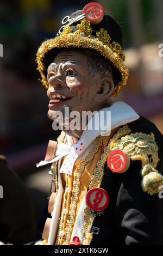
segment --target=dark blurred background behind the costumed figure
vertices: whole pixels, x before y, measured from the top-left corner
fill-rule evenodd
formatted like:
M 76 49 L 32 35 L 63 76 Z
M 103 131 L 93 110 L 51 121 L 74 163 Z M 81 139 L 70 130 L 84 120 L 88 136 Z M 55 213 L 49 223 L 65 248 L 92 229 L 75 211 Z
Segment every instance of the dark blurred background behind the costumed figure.
M 36 71 L 35 53 L 52 38 L 61 19 L 92 1 L 15 0 L 0 2 L 0 154 L 20 176 L 35 207 L 36 222 L 46 205 L 51 176 L 36 169 L 49 139 L 56 140 L 47 118 L 48 98 Z M 130 71 L 119 99 L 153 121 L 163 133 L 162 0 L 98 0 L 121 23 L 123 50 Z M 38 197 L 40 200 L 38 200 Z

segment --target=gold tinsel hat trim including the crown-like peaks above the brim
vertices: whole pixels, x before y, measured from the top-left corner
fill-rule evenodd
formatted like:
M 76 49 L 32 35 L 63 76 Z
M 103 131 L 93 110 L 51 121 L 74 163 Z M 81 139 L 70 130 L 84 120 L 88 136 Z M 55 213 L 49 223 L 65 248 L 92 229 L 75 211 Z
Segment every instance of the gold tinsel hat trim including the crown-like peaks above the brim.
M 43 72 L 45 70 L 43 58 L 49 50 L 62 47 L 89 48 L 90 50 L 99 52 L 106 59 L 109 59 L 120 71 L 122 76 L 121 81 L 115 84 L 115 89 L 112 93 L 113 96 L 117 95 L 118 91 L 126 84 L 128 78 L 128 69 L 124 64 L 125 56 L 124 53 L 122 53 L 121 45 L 115 41 L 110 42 L 110 36 L 103 28 L 93 36 L 90 22 L 85 21 L 85 19 L 81 24 L 78 24 L 77 27 L 78 30 L 72 33 L 71 27 L 65 26 L 64 31 L 59 36 L 42 42 L 39 47 L 36 53 L 36 61 L 37 70 L 39 70 L 41 74 L 43 86 L 46 88 L 49 86 Z

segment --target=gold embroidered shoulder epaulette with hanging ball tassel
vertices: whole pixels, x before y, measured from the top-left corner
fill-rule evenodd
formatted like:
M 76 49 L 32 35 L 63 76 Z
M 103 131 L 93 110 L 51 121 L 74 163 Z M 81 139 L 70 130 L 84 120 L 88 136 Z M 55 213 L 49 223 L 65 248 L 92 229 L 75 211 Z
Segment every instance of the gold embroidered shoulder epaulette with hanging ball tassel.
M 122 137 L 115 148 L 126 151 L 131 160 L 141 160 L 142 190 L 151 195 L 158 193 L 159 186 L 163 185 L 163 176 L 155 169 L 159 157 L 153 133 L 131 133 Z

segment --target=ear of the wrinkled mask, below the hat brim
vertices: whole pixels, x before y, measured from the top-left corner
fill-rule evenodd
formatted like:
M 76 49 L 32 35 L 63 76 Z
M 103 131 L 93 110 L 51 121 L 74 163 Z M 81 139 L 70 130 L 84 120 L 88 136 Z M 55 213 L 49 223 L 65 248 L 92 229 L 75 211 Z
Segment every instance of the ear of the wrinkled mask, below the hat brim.
M 101 79 L 101 87 L 99 92 L 96 93 L 95 101 L 98 103 L 105 102 L 109 99 L 114 91 L 114 81 L 110 77 L 104 77 Z

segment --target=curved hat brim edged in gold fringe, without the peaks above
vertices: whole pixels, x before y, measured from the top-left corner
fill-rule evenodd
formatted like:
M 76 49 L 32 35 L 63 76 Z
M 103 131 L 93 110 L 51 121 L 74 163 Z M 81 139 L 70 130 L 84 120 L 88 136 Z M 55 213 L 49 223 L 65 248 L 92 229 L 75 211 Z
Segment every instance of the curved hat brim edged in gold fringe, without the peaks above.
M 54 51 L 55 49 L 55 53 L 57 54 L 61 48 L 85 48 L 90 51 L 96 51 L 97 53 L 101 54 L 101 56 L 106 58 L 106 60 L 109 60 L 110 64 L 114 68 L 114 75 L 117 76 L 117 79 L 114 80 L 114 82 L 116 82 L 112 96 L 117 95 L 119 90 L 126 85 L 129 72 L 123 60 L 116 52 L 113 52 L 109 46 L 103 44 L 96 38 L 71 34 L 64 37 L 57 36 L 56 38 L 48 39 L 42 42 L 39 50 L 36 53 L 36 61 L 38 65 L 37 69 L 39 70 L 42 78 L 41 82 L 46 88 L 49 86 L 46 78 L 47 57 L 50 53 L 49 51 L 52 49 Z

